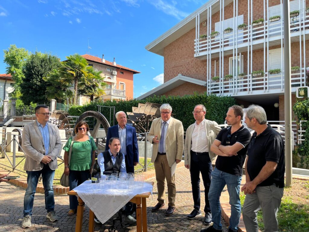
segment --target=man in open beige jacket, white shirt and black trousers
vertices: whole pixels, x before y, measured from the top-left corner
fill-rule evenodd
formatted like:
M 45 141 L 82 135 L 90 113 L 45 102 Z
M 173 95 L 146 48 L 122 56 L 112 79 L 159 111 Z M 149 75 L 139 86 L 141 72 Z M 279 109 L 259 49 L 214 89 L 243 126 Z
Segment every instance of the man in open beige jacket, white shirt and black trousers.
M 211 182 L 211 161 L 215 154 L 210 151 L 211 144 L 214 142 L 221 130 L 217 122 L 205 119 L 206 108 L 204 105 L 196 105 L 193 110 L 195 123 L 190 125 L 186 131 L 184 143 L 184 165 L 190 170 L 193 211 L 187 215 L 188 219 L 193 219 L 201 215 L 201 194 L 200 194 L 200 172 L 202 174 L 205 187 L 205 217 L 204 224 L 211 223 L 211 211 L 208 200 L 208 192 Z

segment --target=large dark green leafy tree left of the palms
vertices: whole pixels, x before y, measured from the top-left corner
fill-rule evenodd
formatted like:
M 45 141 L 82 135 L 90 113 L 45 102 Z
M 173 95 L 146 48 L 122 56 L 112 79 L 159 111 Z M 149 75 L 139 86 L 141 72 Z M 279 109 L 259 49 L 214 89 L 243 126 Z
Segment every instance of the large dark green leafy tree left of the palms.
M 20 86 L 20 92 L 22 93 L 20 99 L 23 100 L 25 105 L 29 105 L 30 102 L 38 104 L 47 102 L 45 94 L 46 82 L 43 77 L 60 66 L 61 62 L 57 56 L 40 52 L 30 54 L 23 68 L 25 77 L 23 84 Z

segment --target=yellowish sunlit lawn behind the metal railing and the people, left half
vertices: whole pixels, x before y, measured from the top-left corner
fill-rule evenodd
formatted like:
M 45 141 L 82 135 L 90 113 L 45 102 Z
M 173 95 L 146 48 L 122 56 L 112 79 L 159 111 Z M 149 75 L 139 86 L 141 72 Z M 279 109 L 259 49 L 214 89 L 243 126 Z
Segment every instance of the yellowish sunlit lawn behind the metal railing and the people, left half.
M 13 163 L 13 153 L 12 153 L 12 152 L 7 152 L 6 155 L 9 157 L 11 163 Z M 150 159 L 150 158 L 147 158 L 147 160 L 148 160 L 148 163 L 149 163 L 151 159 Z M 11 165 L 10 161 L 7 159 L 7 157 L 5 157 L 4 159 L 0 159 L 0 167 L 4 168 L 4 169 L 6 169 L 6 170 L 12 170 L 12 165 Z M 21 161 L 21 162 L 20 162 L 20 161 Z M 61 159 L 58 159 L 57 161 L 58 161 L 58 165 L 62 163 L 62 160 L 61 160 Z M 144 161 L 145 161 L 144 158 L 141 158 L 141 157 L 139 158 L 139 163 L 140 163 L 141 165 L 144 165 Z M 18 165 L 16 166 L 16 169 L 21 170 L 21 171 L 18 171 L 18 170 L 15 169 L 14 172 L 15 172 L 16 174 L 19 174 L 19 175 L 21 175 L 21 176 L 27 178 L 27 174 L 24 173 L 24 172 L 22 172 L 22 171 L 23 171 L 23 165 L 25 164 L 24 153 L 22 153 L 22 152 L 16 152 L 15 162 L 16 162 L 15 165 L 17 165 L 17 164 L 20 162 L 20 164 L 18 164 Z M 3 165 L 2 165 L 2 164 L 3 164 Z M 4 166 L 4 165 L 10 166 L 11 168 L 6 167 L 6 166 Z M 143 167 L 142 167 L 141 165 L 139 165 L 139 164 L 136 165 L 136 166 L 134 167 L 134 171 L 136 171 L 136 172 L 142 172 L 141 169 L 142 169 Z M 148 171 L 148 170 L 152 170 L 152 169 L 154 169 L 154 166 L 150 164 L 150 167 L 147 167 L 147 171 Z M 53 185 L 60 185 L 60 178 L 61 178 L 61 175 L 62 175 L 63 171 L 64 171 L 64 163 L 62 163 L 61 165 L 59 165 L 59 166 L 58 166 L 58 169 L 56 169 L 56 171 L 55 171 L 55 177 L 54 177 L 54 181 L 53 181 Z M 57 179 L 58 179 L 58 180 L 57 180 Z

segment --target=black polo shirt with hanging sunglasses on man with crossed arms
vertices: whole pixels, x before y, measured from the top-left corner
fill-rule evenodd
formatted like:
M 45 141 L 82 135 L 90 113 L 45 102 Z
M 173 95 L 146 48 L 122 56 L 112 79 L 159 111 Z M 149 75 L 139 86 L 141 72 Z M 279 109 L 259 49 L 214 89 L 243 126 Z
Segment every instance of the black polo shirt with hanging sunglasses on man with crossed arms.
M 232 175 L 242 175 L 243 163 L 245 162 L 250 138 L 251 134 L 244 126 L 241 126 L 233 134 L 231 134 L 231 127 L 223 128 L 219 132 L 216 140 L 219 140 L 223 146 L 230 146 L 235 143 L 240 143 L 243 145 L 243 149 L 237 152 L 237 156 L 218 156 L 216 160 L 216 168 L 222 172 Z

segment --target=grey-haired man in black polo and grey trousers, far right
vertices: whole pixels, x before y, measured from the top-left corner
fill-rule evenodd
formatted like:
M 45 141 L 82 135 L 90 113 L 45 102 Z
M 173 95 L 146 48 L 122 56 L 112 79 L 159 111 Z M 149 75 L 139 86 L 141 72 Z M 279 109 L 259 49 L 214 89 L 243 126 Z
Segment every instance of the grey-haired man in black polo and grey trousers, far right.
M 246 183 L 241 188 L 246 194 L 243 222 L 247 232 L 257 232 L 257 212 L 263 209 L 265 231 L 278 231 L 277 212 L 284 187 L 284 143 L 279 132 L 267 125 L 265 110 L 251 105 L 246 110 L 245 122 L 255 130 L 248 147 Z

